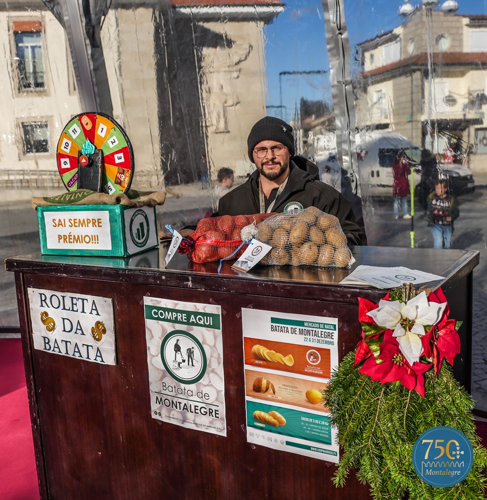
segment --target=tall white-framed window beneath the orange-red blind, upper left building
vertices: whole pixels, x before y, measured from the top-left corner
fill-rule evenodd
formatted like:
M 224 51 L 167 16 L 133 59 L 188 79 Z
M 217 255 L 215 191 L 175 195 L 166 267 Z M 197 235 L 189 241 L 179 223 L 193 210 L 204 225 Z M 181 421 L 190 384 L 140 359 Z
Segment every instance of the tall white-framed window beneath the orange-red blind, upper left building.
M 17 31 L 14 41 L 18 90 L 45 88 L 41 32 Z

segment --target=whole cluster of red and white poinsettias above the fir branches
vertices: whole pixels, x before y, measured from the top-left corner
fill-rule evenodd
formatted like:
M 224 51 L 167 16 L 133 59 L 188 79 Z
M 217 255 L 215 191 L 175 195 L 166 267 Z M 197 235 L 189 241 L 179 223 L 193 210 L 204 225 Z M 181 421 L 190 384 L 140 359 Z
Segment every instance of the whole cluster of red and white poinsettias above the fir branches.
M 355 365 L 363 363 L 359 371 L 373 380 L 399 381 L 424 397 L 423 373 L 434 366 L 436 376 L 443 359 L 452 364 L 460 352 L 457 323 L 448 319 L 449 312 L 441 288 L 427 298 L 421 292 L 404 301 L 389 300 L 389 292 L 378 304 L 359 298 L 362 338 Z

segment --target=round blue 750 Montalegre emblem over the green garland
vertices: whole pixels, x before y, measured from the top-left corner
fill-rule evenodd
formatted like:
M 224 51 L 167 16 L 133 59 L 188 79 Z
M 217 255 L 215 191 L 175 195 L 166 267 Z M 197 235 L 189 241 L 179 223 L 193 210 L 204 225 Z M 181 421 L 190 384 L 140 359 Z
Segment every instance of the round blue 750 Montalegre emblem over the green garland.
M 454 486 L 470 472 L 473 449 L 463 432 L 447 426 L 423 432 L 412 448 L 412 465 L 426 483 L 438 488 Z

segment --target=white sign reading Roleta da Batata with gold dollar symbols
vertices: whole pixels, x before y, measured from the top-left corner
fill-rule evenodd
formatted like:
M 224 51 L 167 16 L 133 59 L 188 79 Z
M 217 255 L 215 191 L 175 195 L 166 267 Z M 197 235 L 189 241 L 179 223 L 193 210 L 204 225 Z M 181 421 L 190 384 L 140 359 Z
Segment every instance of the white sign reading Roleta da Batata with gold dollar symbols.
M 111 298 L 28 288 L 35 349 L 116 364 Z

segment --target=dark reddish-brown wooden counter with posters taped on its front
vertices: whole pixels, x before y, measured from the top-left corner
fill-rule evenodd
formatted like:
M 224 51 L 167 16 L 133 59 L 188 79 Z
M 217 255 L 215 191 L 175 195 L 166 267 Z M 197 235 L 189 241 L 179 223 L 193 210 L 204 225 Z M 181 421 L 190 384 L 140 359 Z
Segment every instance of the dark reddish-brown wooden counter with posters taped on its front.
M 454 372 L 469 390 L 472 270 L 476 251 L 355 247 L 354 264 L 403 265 L 446 276 L 451 316 L 463 320 Z M 338 318 L 339 358 L 360 335 L 357 297 L 383 290 L 342 286 L 347 270 L 192 264 L 177 255 L 163 269 L 166 247 L 128 259 L 32 253 L 9 258 L 16 293 L 39 489 L 43 499 L 367 498 L 350 477 L 331 483 L 334 465 L 246 441 L 241 308 Z M 27 288 L 70 291 L 113 300 L 117 364 L 104 366 L 33 349 Z M 143 297 L 221 306 L 227 437 L 150 416 Z

